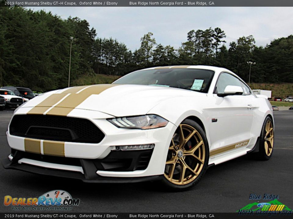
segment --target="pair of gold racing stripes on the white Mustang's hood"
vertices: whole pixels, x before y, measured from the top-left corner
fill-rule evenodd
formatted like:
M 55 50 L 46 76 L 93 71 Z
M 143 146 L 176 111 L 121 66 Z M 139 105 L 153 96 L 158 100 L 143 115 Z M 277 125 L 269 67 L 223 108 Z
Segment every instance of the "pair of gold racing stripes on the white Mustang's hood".
M 45 113 L 46 115 L 67 116 L 68 113 L 70 113 L 75 107 L 85 101 L 85 99 L 87 99 L 92 94 L 100 94 L 101 92 L 114 86 L 117 85 L 99 84 L 72 87 L 66 89 L 60 94 L 52 94 L 33 109 L 31 109 L 27 114 Z

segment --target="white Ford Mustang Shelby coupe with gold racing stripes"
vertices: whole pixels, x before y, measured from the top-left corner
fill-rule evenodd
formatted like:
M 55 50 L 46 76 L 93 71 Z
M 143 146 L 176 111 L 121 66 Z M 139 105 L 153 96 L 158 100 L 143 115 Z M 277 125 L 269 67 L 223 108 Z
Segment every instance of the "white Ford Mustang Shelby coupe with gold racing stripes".
M 167 66 L 112 84 L 47 92 L 15 110 L 7 169 L 81 179 L 195 185 L 209 165 L 273 152 L 273 111 L 233 72 Z

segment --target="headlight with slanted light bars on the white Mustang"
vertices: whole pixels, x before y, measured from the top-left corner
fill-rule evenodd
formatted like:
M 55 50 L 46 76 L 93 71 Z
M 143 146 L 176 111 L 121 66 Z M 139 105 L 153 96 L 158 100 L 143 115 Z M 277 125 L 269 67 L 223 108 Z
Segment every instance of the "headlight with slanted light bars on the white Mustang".
M 167 120 L 157 115 L 118 117 L 114 119 L 108 119 L 108 121 L 119 128 L 138 129 L 165 127 L 168 123 Z

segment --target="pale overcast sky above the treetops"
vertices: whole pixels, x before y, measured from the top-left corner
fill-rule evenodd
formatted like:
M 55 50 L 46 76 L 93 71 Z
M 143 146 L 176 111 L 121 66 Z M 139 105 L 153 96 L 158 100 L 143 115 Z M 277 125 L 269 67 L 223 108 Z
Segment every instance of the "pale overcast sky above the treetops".
M 42 8 L 31 8 L 40 10 Z M 140 38 L 154 33 L 157 43 L 176 49 L 186 41 L 190 30 L 220 27 L 226 33 L 226 45 L 240 36 L 253 35 L 256 45 L 293 34 L 292 7 L 47 7 L 63 19 L 86 19 L 98 37 L 112 37 L 131 50 L 140 46 Z

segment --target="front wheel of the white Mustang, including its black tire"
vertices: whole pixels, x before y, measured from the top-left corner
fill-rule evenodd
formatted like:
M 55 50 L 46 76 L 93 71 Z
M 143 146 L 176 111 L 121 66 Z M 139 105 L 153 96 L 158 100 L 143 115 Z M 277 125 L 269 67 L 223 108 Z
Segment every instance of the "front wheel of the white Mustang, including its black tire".
M 184 120 L 169 146 L 163 184 L 172 190 L 196 185 L 208 167 L 209 148 L 203 129 L 193 120 Z

